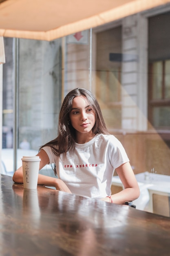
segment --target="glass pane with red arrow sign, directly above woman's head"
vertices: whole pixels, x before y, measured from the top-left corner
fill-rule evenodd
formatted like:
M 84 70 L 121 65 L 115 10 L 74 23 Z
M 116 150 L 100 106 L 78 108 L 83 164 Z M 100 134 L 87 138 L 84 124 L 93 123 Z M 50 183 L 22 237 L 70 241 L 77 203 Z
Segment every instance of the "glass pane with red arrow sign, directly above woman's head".
M 74 88 L 91 90 L 90 81 L 90 30 L 66 36 L 64 67 L 64 96 Z

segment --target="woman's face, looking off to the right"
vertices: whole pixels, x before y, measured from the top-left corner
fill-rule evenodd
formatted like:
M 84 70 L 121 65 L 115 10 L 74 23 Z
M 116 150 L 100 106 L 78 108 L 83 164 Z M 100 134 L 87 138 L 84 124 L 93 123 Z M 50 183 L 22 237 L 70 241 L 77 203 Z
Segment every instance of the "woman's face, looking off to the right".
M 73 99 L 69 117 L 73 128 L 80 133 L 91 132 L 96 121 L 95 111 L 84 96 L 77 96 Z

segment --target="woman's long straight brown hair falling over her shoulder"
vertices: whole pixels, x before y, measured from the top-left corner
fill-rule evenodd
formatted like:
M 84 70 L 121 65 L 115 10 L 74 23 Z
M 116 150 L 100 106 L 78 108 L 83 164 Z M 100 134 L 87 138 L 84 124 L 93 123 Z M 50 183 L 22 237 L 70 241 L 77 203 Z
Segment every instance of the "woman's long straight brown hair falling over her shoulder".
M 102 111 L 95 96 L 89 90 L 83 88 L 76 88 L 71 92 L 68 92 L 62 103 L 59 114 L 57 138 L 44 145 L 50 146 L 53 153 L 59 157 L 60 154 L 66 153 L 67 151 L 73 150 L 75 148 L 75 129 L 70 123 L 69 112 L 72 108 L 73 99 L 77 96 L 86 97 L 89 105 L 93 108 L 95 112 L 96 121 L 95 125 L 92 128 L 93 134 L 109 134 L 102 116 Z M 42 149 L 44 146 L 41 146 L 40 149 Z

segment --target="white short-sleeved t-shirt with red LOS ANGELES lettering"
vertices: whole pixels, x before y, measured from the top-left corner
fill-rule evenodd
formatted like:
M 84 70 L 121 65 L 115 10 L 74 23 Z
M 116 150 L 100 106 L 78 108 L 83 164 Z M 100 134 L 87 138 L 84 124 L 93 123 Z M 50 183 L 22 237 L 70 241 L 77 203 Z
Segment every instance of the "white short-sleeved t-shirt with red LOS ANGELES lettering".
M 76 143 L 74 151 L 60 157 L 49 146 L 43 149 L 71 192 L 90 198 L 110 195 L 115 168 L 129 162 L 124 147 L 113 135 L 99 134 L 85 144 Z

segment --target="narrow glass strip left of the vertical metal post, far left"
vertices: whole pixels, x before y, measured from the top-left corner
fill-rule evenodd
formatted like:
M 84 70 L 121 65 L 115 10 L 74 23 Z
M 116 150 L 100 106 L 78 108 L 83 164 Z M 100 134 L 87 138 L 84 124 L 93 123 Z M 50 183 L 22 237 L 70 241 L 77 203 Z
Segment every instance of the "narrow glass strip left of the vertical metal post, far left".
M 6 63 L 3 65 L 2 151 L 0 171 L 13 175 L 13 38 L 4 38 Z

